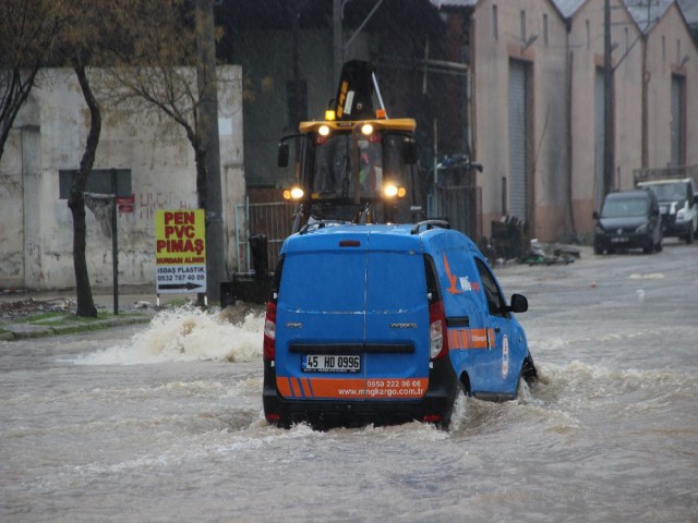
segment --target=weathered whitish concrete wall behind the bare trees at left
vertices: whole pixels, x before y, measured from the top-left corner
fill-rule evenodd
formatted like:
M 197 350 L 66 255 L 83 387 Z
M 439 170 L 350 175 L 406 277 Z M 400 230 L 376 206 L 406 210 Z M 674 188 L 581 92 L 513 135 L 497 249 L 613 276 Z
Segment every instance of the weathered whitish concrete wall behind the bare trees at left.
M 74 287 L 72 215 L 59 198 L 59 171 L 77 169 L 89 114 L 69 69 L 44 72 L 40 88 L 23 109 L 0 165 L 12 183 L 0 187 L 0 288 Z M 220 68 L 219 133 L 226 238 L 236 204 L 244 200 L 242 77 Z M 135 204 L 118 216 L 120 284 L 155 285 L 156 209 L 195 208 L 194 154 L 183 131 L 160 114 L 137 119 L 104 111 L 94 169 L 130 169 Z M 7 185 L 7 184 L 3 184 Z M 98 204 L 87 212 L 87 266 L 95 287 L 111 285 L 109 215 Z M 226 245 L 227 264 L 237 265 Z

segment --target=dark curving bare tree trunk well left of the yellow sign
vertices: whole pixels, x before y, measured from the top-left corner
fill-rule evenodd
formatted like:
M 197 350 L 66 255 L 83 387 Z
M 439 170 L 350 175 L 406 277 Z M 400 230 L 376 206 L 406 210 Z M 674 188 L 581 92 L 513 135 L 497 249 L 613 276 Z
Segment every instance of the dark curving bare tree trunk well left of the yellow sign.
M 87 235 L 87 224 L 85 221 L 85 186 L 87 178 L 95 163 L 95 154 L 99 144 L 101 132 L 101 111 L 99 105 L 89 86 L 89 81 L 85 74 L 85 66 L 80 63 L 75 65 L 75 75 L 85 97 L 85 102 L 89 108 L 89 132 L 85 143 L 85 150 L 80 162 L 80 170 L 70 190 L 68 206 L 73 215 L 73 267 L 75 269 L 75 292 L 77 299 L 77 316 L 96 317 L 97 308 L 92 296 L 89 285 L 89 275 L 87 273 L 87 260 L 85 259 L 85 244 Z

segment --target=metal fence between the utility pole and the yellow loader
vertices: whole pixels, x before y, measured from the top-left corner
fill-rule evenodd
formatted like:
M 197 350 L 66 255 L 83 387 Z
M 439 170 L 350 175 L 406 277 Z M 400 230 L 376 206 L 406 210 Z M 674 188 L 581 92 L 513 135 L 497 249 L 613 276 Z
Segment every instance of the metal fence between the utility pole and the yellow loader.
M 252 269 L 250 236 L 264 234 L 267 239 L 269 270 L 274 270 L 279 259 L 279 250 L 284 240 L 291 234 L 293 227 L 293 204 L 250 204 L 236 206 L 236 248 L 238 270 Z

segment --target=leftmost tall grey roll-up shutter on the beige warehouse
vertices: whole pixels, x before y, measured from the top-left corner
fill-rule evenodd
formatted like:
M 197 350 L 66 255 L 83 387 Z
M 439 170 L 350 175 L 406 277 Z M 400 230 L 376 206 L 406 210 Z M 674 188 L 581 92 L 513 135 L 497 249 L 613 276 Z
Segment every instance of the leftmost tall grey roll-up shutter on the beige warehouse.
M 509 62 L 509 214 L 528 221 L 526 64 Z

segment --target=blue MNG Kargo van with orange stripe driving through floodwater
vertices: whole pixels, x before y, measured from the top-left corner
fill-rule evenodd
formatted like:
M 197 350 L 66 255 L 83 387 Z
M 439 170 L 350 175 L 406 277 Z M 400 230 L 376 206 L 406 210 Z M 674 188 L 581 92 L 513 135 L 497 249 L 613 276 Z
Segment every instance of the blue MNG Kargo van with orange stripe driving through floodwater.
M 456 397 L 515 399 L 535 367 L 485 258 L 447 223 L 316 222 L 280 251 L 264 329 L 266 419 L 422 421 Z

